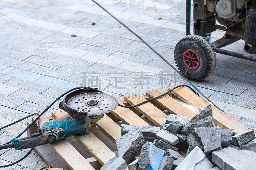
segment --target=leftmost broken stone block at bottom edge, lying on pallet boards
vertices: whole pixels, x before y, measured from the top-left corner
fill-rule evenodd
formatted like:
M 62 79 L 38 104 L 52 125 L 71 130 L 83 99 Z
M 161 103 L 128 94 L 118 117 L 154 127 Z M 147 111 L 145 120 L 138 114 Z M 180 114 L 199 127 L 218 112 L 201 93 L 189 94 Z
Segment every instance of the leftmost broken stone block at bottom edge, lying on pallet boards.
M 117 153 L 116 156 L 104 164 L 100 170 L 124 170 L 127 168 L 125 160 Z

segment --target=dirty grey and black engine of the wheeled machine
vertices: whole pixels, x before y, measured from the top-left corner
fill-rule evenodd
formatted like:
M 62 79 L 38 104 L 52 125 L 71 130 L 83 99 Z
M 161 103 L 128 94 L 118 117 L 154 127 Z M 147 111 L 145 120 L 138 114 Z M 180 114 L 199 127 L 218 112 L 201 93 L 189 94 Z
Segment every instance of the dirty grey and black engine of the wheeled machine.
M 256 54 L 255 4 L 255 0 L 194 0 L 194 34 L 206 37 L 220 29 L 226 31 L 226 39 L 234 39 L 231 43 L 242 39 L 244 50 Z

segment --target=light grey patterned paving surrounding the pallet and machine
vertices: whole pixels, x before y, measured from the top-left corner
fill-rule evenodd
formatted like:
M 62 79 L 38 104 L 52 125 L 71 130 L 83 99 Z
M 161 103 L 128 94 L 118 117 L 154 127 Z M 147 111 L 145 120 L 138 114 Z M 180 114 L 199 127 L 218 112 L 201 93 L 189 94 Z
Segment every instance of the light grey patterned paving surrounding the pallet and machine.
M 175 45 L 185 36 L 185 0 L 96 1 L 175 65 Z M 122 99 L 188 84 L 90 0 L 3 0 L 0 5 L 1 127 L 41 112 L 60 94 L 80 85 L 98 87 Z M 212 40 L 222 36 L 222 32 L 212 33 Z M 226 49 L 245 53 L 243 46 L 238 41 Z M 214 73 L 194 83 L 227 114 L 256 130 L 255 74 L 255 63 L 217 54 Z M 46 115 L 57 109 L 58 103 Z M 23 121 L 1 130 L 0 144 L 25 127 Z M 0 164 L 15 162 L 28 150 L 5 152 L 0 151 Z M 32 153 L 18 165 L 2 169 L 46 165 Z

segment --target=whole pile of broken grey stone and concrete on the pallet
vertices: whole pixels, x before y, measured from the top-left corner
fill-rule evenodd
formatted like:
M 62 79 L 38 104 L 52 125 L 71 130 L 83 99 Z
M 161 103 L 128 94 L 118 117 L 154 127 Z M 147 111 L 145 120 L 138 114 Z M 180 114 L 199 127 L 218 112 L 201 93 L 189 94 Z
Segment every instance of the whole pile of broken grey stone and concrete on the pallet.
M 123 124 L 122 137 L 116 140 L 118 154 L 101 170 L 256 168 L 254 131 L 235 134 L 234 129 L 217 128 L 211 105 L 193 118 L 170 114 L 165 123 L 161 129 Z

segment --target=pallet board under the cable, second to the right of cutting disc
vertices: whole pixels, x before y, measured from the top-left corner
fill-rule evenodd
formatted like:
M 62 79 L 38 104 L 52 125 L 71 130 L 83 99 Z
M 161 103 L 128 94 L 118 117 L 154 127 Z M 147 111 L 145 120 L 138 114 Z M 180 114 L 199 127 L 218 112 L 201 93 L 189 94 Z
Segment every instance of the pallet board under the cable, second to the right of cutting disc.
M 130 105 L 135 105 L 146 101 L 146 99 L 142 98 L 140 94 L 125 96 L 124 100 L 127 101 Z M 135 108 L 157 126 L 161 127 L 161 125 L 165 123 L 166 115 L 152 103 L 148 102 Z

